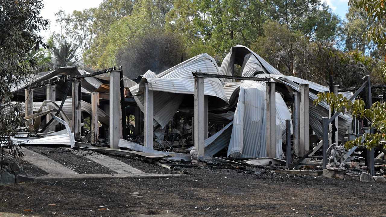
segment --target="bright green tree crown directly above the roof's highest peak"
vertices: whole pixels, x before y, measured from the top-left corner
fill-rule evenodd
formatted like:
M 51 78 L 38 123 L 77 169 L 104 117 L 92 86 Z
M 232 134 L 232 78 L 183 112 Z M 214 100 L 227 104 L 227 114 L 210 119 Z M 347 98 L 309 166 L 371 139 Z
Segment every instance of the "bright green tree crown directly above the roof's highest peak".
M 260 1 L 203 0 L 200 5 L 200 11 L 208 17 L 201 29 L 208 32 L 205 37 L 222 55 L 236 44 L 250 46 L 262 35 L 262 24 L 267 16 L 265 4 Z

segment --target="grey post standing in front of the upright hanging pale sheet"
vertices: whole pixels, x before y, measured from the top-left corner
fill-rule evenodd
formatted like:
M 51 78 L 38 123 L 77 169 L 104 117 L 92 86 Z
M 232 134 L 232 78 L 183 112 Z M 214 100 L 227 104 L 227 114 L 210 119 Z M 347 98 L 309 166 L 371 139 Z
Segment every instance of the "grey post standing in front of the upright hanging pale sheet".
M 276 82 L 266 82 L 266 147 L 267 157 L 276 158 Z

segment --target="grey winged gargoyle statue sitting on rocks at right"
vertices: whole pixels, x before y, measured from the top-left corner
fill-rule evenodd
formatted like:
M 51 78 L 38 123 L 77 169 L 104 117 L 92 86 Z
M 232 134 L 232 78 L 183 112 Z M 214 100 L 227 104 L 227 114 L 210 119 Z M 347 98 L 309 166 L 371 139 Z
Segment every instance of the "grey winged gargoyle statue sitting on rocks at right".
M 337 146 L 336 143 L 334 143 L 330 147 L 328 147 L 327 156 L 330 156 L 330 158 L 328 158 L 328 164 L 326 165 L 326 169 L 334 171 L 343 171 L 343 156 L 345 154 L 345 151 L 346 150 L 344 149 L 343 144 Z

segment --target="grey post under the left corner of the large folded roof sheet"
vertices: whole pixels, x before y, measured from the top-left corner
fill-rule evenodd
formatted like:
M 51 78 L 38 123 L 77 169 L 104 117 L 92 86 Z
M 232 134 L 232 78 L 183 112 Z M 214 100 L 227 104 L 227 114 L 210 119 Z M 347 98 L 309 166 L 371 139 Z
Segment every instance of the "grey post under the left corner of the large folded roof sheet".
M 145 83 L 145 147 L 154 149 L 154 98 L 153 91 L 149 90 L 149 84 Z

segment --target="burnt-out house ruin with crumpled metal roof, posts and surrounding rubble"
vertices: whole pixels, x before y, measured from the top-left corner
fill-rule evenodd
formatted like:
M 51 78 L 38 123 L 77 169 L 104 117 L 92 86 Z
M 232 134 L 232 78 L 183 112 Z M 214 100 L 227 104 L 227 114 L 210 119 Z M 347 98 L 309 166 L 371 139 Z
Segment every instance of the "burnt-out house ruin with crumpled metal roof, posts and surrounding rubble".
M 234 64 L 241 66 L 240 76 L 235 75 Z M 187 168 L 227 164 L 230 168 L 249 165 L 280 173 L 385 181 L 375 176 L 386 174 L 382 150 L 374 158 L 374 149 L 343 150 L 332 145 L 373 132 L 369 123 L 348 113 L 333 113 L 327 103 L 313 104 L 317 93 L 333 91 L 350 100 L 361 93 L 369 107 L 371 90 L 383 88 L 372 87 L 369 76 L 359 88 L 329 88 L 283 75 L 248 47 L 237 45 L 221 66 L 203 53 L 159 74 L 149 70 L 136 81 L 126 78 L 122 67 L 96 73 L 63 67 L 24 78 L 14 84 L 12 92 L 15 103 L 24 105 L 20 115 L 28 124 L 20 126 L 9 141 L 20 146 L 69 146 L 77 154 L 95 151 L 135 156 L 174 171 L 175 177 L 186 174 L 176 164 Z M 2 180 L 14 183 L 17 176 L 32 181 L 167 176 L 135 168 L 129 171 L 131 166 L 103 154 L 97 161 L 118 172 L 82 175 L 23 150 L 29 163 L 48 174 L 31 178 L 7 170 Z M 87 158 L 96 159 L 93 157 Z M 44 162 L 59 165 L 48 168 Z M 336 167 L 339 170 L 332 170 Z

